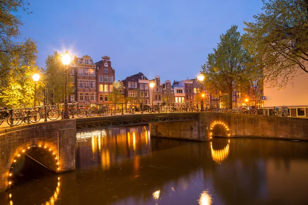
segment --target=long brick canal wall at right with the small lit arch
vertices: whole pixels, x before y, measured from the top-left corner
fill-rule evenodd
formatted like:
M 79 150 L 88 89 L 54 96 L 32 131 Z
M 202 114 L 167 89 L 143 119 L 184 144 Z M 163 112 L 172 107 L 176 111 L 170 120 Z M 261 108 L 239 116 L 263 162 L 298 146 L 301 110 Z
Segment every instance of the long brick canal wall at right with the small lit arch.
M 211 136 L 308 140 L 308 119 L 231 113 L 199 113 L 199 121 L 150 124 L 151 136 L 204 141 Z

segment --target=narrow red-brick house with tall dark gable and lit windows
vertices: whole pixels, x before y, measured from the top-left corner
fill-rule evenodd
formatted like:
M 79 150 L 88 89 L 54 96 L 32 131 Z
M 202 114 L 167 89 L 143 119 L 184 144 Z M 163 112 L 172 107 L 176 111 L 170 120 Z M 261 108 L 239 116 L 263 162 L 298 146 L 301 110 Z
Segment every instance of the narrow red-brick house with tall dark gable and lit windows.
M 113 100 L 115 70 L 111 67 L 110 57 L 106 55 L 95 65 L 97 66 L 97 101 L 109 103 Z

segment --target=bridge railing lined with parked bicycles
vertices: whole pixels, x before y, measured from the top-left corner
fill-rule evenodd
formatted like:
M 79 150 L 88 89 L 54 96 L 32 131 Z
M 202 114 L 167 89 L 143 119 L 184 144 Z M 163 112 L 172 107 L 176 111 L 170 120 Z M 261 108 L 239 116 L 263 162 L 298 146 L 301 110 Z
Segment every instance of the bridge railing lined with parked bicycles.
M 201 107 L 203 106 L 203 108 Z M 94 117 L 106 115 L 123 115 L 135 113 L 159 113 L 159 112 L 229 112 L 242 114 L 262 114 L 255 108 L 233 107 L 219 108 L 217 105 L 199 103 L 94 103 L 79 104 L 69 103 L 68 115 L 70 118 Z M 27 108 L 21 106 L 18 109 L 0 107 L 0 126 L 19 126 L 22 124 L 36 123 L 39 121 L 64 119 L 64 105 L 48 105 Z

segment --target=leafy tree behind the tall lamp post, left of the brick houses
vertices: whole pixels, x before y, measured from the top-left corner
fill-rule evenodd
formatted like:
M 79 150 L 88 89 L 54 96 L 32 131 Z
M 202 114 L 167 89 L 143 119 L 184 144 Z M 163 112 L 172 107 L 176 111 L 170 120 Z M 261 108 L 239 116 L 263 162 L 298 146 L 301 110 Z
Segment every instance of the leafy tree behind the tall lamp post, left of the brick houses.
M 62 64 L 61 55 L 54 51 L 48 55 L 46 60 L 46 97 L 47 104 L 64 103 L 65 98 L 65 69 Z M 70 86 L 69 70 L 67 71 L 67 96 L 73 92 Z

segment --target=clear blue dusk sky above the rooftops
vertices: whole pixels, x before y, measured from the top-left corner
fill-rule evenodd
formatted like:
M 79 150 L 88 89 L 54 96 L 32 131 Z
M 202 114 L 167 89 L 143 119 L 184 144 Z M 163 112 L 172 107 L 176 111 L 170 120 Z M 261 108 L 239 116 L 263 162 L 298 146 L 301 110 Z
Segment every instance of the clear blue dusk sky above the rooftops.
M 110 56 L 115 79 L 143 72 L 162 80 L 194 78 L 219 35 L 260 13 L 261 0 L 29 0 L 23 37 L 37 42 L 38 64 L 54 50 L 94 62 Z

